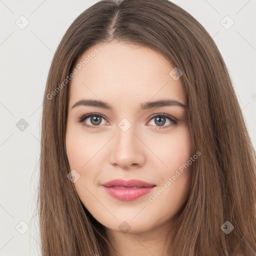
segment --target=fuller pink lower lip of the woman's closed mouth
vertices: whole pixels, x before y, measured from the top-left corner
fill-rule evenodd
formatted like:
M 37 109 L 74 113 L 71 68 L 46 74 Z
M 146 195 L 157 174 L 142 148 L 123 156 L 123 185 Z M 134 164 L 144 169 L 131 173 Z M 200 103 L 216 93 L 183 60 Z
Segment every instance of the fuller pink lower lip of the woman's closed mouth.
M 107 187 L 103 186 L 105 191 L 112 195 L 113 197 L 123 200 L 130 201 L 149 193 L 154 186 L 149 187 L 139 187 L 139 188 L 117 188 L 117 187 Z

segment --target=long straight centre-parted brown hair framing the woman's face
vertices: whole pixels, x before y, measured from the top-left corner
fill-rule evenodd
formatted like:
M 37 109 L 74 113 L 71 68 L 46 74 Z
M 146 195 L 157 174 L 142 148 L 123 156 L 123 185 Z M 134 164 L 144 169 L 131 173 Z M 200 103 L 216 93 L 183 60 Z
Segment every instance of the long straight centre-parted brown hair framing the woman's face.
M 241 108 L 211 36 L 168 0 L 98 1 L 72 22 L 57 47 L 41 120 L 37 203 L 42 255 L 114 254 L 105 227 L 67 178 L 65 149 L 67 77 L 86 49 L 113 39 L 150 47 L 182 72 L 192 145 L 201 155 L 194 162 L 190 194 L 169 252 L 231 256 L 240 249 L 255 255 L 255 152 Z M 228 234 L 221 229 L 225 221 L 234 227 Z

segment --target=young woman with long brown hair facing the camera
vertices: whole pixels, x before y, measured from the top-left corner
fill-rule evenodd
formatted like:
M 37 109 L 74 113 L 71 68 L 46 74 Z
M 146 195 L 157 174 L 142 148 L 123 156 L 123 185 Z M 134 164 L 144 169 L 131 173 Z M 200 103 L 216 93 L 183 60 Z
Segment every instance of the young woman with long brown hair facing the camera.
M 167 0 L 64 34 L 42 114 L 42 255 L 255 255 L 255 155 L 210 35 Z

